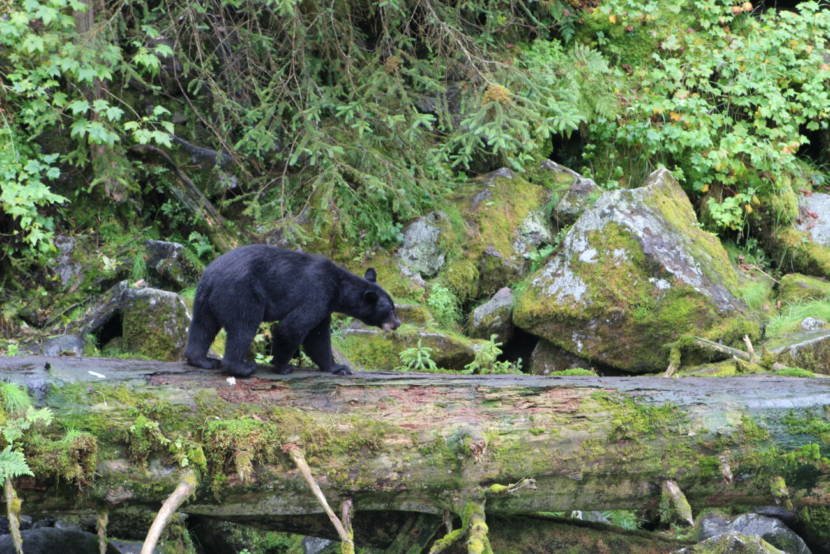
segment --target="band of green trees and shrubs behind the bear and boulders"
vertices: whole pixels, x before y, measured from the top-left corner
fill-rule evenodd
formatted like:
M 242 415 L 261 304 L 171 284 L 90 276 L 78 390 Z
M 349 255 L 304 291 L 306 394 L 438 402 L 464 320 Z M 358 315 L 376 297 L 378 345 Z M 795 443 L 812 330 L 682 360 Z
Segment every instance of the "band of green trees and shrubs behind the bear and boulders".
M 470 176 L 671 169 L 762 256 L 827 183 L 830 11 L 750 2 L 0 0 L 0 326 L 54 318 L 55 237 L 394 246 Z M 223 154 L 195 160 L 171 133 Z M 225 216 L 182 200 L 172 156 Z M 196 163 L 201 161 L 202 163 Z M 93 290 L 88 280 L 76 292 Z M 13 300 L 26 297 L 25 302 Z

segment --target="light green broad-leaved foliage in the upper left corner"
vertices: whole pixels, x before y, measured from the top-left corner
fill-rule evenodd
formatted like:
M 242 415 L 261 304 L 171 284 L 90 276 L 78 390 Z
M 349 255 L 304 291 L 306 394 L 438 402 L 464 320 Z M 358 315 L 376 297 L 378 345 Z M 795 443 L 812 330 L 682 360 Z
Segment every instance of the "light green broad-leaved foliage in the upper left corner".
M 158 130 L 172 130 L 172 124 L 162 120 L 164 111 L 156 109 L 151 117 L 139 117 L 135 111 L 130 115 L 120 98 L 103 94 L 116 77 L 138 75 L 108 31 L 77 31 L 76 17 L 87 6 L 78 0 L 25 0 L 4 6 L 0 217 L 5 214 L 11 224 L 4 226 L 22 233 L 22 240 L 3 241 L 3 254 L 10 258 L 53 251 L 53 219 L 42 209 L 66 201 L 49 184 L 60 173 L 59 155 L 63 163 L 85 166 L 91 148 L 113 146 L 129 133 L 146 139 L 140 142 L 170 144 L 167 133 Z M 68 134 L 74 145 L 71 150 L 44 153 L 32 139 L 49 134 Z M 112 164 L 108 169 L 110 176 L 117 175 Z

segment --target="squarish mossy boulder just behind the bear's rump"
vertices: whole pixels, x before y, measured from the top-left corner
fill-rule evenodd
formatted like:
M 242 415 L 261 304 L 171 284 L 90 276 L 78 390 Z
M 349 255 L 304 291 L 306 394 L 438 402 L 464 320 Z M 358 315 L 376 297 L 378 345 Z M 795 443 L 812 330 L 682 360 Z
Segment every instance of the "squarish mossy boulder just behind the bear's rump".
M 154 360 L 178 360 L 187 343 L 190 317 L 178 294 L 127 289 L 122 308 L 123 348 Z

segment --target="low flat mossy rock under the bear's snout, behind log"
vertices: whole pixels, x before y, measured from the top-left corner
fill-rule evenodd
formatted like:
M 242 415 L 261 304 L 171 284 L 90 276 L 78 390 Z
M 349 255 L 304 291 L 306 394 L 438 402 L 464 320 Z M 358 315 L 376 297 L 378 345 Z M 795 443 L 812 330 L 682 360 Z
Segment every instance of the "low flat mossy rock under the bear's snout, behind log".
M 477 343 L 461 335 L 403 325 L 394 333 L 365 327 L 346 329 L 334 337 L 333 344 L 354 366 L 381 371 L 400 367 L 401 351 L 419 344 L 430 349 L 430 358 L 438 367 L 464 369 L 475 358 Z

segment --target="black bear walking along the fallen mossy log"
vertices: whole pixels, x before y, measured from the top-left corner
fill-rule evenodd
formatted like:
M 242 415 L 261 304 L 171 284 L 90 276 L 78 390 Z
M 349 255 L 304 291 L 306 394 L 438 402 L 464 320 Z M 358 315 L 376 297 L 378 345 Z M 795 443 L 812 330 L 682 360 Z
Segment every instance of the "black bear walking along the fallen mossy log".
M 290 373 L 300 345 L 317 366 L 349 375 L 331 353 L 331 313 L 340 312 L 384 330 L 400 325 L 392 298 L 369 268 L 363 278 L 322 256 L 264 244 L 242 246 L 219 256 L 205 269 L 190 323 L 185 358 L 205 369 L 220 362 L 207 351 L 221 327 L 227 332 L 222 365 L 231 375 L 248 377 L 256 364 L 245 359 L 263 321 L 279 321 L 272 336 L 273 365 Z

